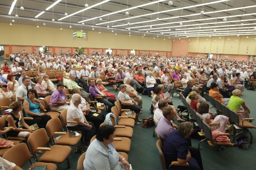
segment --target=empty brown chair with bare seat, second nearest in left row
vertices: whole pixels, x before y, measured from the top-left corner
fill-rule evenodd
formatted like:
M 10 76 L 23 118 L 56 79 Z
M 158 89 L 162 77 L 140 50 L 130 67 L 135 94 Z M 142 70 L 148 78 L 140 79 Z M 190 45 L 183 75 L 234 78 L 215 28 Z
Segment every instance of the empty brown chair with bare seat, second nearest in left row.
M 62 163 L 67 160 L 68 168 L 70 168 L 68 156 L 71 148 L 69 146 L 52 145 L 44 147 L 45 145 L 49 146 L 49 137 L 44 128 L 35 130 L 28 138 L 29 150 L 37 162 Z M 45 151 L 39 159 L 36 155 L 37 151 Z

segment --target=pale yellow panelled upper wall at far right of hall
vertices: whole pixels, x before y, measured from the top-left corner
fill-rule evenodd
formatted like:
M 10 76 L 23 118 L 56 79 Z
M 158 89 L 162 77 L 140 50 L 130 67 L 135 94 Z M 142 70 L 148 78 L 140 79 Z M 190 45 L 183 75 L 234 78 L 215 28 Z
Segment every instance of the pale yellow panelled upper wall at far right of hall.
M 219 36 L 199 37 L 199 39 L 197 39 L 197 37 L 190 37 L 188 52 L 206 54 L 236 54 L 246 56 L 256 55 L 256 40 L 254 40 L 254 38 L 256 38 L 255 35 L 248 35 L 248 38 L 246 38 L 247 36 L 220 37 L 221 39 L 219 39 Z

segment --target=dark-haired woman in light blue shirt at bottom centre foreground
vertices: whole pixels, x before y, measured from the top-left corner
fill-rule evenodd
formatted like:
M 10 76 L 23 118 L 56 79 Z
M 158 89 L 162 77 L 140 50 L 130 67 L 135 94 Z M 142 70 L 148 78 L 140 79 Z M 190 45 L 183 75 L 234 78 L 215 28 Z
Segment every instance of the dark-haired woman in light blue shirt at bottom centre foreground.
M 114 131 L 111 125 L 99 127 L 96 139 L 87 148 L 84 170 L 91 169 L 130 169 L 130 164 L 114 148 Z M 97 158 L 97 159 L 95 159 Z M 119 163 L 121 161 L 122 165 Z

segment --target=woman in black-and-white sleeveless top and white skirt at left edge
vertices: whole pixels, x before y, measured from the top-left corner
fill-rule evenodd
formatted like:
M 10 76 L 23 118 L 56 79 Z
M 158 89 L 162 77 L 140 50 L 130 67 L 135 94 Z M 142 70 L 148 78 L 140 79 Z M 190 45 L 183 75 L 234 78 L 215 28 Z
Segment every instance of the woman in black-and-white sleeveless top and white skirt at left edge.
M 28 138 L 34 130 L 29 129 L 29 125 L 23 119 L 22 103 L 20 101 L 14 101 L 9 107 L 12 111 L 5 118 L 5 127 L 13 127 L 14 129 L 6 133 L 7 137 Z

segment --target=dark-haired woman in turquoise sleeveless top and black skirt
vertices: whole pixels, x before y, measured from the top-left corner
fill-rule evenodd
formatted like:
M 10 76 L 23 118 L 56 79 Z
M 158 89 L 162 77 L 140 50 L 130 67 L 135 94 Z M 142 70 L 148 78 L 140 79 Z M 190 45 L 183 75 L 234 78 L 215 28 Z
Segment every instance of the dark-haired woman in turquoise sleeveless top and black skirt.
M 26 123 L 31 126 L 35 123 L 39 128 L 45 128 L 46 123 L 51 119 L 51 116 L 45 113 L 40 113 L 39 108 L 44 110 L 44 106 L 37 99 L 37 93 L 35 89 L 29 89 L 27 97 L 23 102 L 23 107 L 26 113 L 26 117 L 32 117 L 33 120 L 26 120 Z

